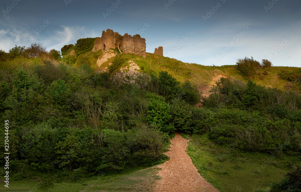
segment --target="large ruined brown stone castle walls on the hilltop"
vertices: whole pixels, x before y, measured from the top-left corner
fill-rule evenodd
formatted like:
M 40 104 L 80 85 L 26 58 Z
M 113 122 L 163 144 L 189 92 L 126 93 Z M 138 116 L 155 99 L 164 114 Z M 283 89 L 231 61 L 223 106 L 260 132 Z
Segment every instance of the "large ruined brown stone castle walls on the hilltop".
M 113 32 L 111 29 L 107 29 L 107 32 L 103 31 L 102 36 L 96 38 L 92 51 L 96 52 L 100 49 L 103 51 L 116 49 L 116 40 L 118 37 L 120 37 L 119 33 Z M 123 53 L 132 53 L 146 57 L 146 44 L 144 38 L 140 38 L 137 35 L 132 37 L 126 33 L 123 35 L 121 44 L 122 46 L 119 48 Z

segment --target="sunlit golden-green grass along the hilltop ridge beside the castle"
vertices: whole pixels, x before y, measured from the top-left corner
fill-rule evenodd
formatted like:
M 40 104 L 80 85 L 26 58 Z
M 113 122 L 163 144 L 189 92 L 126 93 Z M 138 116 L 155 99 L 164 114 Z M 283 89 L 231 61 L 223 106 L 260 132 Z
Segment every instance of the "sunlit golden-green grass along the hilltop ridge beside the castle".
M 238 71 L 235 63 L 233 65 L 225 66 L 202 66 L 196 63 L 185 63 L 152 53 L 146 53 L 146 58 L 133 54 L 122 54 L 119 56 L 126 59 L 125 65 L 122 67 L 126 66 L 128 64 L 127 61 L 132 59 L 140 67 L 141 71 L 146 74 L 153 73 L 158 75 L 160 71 L 167 71 L 178 81 L 184 82 L 185 80 L 189 80 L 197 88 L 208 86 L 212 81 L 212 77 L 219 74 L 226 75 L 231 79 L 239 79 L 244 82 L 248 81 L 248 79 L 240 71 Z M 113 58 L 109 59 L 98 70 L 107 67 L 112 60 Z M 287 84 L 287 81 L 278 77 L 278 74 L 284 69 L 293 71 L 296 68 L 278 66 L 262 68 L 258 70 L 253 81 L 262 86 L 284 90 L 284 86 Z M 118 69 L 116 71 L 118 71 Z M 268 75 L 262 75 L 264 71 L 268 72 Z

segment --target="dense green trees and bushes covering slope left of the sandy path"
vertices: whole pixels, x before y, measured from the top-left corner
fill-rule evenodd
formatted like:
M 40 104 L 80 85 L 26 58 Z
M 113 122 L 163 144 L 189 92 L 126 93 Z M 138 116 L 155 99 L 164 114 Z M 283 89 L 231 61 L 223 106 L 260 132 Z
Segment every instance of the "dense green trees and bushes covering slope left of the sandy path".
M 88 60 L 77 57 L 76 68 L 27 58 L 30 65 L 1 69 L 0 118 L 10 121 L 15 179 L 37 173 L 80 179 L 153 165 L 166 159 L 169 133 L 193 130 L 187 102 L 197 95 L 190 82 L 162 72 L 139 87 L 95 73 Z M 152 84 L 170 91 L 157 95 Z

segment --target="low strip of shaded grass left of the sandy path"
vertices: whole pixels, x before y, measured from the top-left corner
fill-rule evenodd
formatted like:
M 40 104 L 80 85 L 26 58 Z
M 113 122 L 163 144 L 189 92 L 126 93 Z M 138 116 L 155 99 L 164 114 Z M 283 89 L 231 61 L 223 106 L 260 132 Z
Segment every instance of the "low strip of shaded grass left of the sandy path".
M 54 185 L 49 188 L 41 188 L 39 182 L 33 179 L 23 179 L 20 181 L 12 180 L 9 186 L 10 188 L 27 187 L 29 188 L 29 191 L 36 191 L 36 192 L 152 191 L 152 189 L 155 186 L 155 182 L 158 179 L 160 179 L 160 176 L 156 174 L 157 174 L 156 168 L 155 169 L 148 168 L 148 169 L 142 169 L 138 171 L 136 169 L 128 174 L 101 175 L 77 183 L 71 183 L 71 182 L 54 183 Z

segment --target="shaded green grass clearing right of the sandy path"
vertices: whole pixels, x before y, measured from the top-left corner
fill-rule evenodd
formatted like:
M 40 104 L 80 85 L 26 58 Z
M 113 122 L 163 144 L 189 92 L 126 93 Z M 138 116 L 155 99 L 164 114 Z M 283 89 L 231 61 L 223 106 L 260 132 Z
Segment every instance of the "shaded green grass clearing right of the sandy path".
M 268 191 L 269 184 L 301 164 L 299 157 L 234 151 L 213 144 L 206 135 L 192 136 L 187 154 L 200 175 L 221 192 Z

